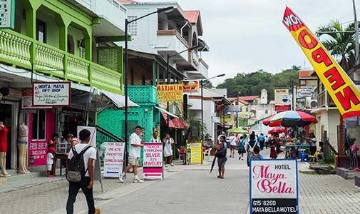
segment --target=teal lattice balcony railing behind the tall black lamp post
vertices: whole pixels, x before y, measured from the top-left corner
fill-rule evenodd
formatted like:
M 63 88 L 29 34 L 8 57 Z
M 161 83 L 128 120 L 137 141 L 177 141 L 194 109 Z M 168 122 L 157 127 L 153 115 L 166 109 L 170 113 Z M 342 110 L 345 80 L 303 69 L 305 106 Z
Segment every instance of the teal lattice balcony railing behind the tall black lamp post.
M 158 103 L 155 86 L 128 86 L 128 96 L 131 101 L 141 104 Z

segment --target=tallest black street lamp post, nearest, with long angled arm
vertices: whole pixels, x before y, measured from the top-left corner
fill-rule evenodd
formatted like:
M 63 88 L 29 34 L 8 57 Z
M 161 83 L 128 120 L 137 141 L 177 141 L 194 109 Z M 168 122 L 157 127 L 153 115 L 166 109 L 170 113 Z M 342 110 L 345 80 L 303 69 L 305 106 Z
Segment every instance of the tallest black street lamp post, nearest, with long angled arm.
M 124 60 L 124 81 L 125 81 L 125 86 L 124 86 L 124 90 L 125 90 L 125 164 L 124 167 L 126 167 L 128 161 L 127 161 L 127 145 L 128 145 L 128 24 L 134 22 L 134 21 L 138 21 L 139 19 L 143 19 L 146 16 L 150 16 L 152 14 L 159 14 L 165 11 L 169 11 L 174 9 L 173 6 L 168 6 L 166 8 L 163 9 L 158 9 L 158 11 L 153 11 L 150 14 L 146 14 L 144 16 L 140 16 L 138 19 L 133 19 L 131 21 L 128 21 L 128 19 L 125 19 L 125 50 L 124 50 L 124 55 L 125 55 L 125 60 Z

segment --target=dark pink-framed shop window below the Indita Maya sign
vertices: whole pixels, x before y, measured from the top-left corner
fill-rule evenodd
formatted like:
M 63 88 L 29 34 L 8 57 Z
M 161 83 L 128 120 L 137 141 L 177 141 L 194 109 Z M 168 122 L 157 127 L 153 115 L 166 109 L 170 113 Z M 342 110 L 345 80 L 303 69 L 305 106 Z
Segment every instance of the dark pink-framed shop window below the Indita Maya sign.
M 36 113 L 31 114 L 31 127 L 33 140 L 45 140 L 46 112 L 44 109 L 38 109 Z

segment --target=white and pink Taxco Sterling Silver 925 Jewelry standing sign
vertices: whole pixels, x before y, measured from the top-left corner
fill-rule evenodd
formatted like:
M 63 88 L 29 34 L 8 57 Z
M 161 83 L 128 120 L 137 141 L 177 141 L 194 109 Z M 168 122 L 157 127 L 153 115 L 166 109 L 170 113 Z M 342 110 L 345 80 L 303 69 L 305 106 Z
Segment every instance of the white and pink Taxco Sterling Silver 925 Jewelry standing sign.
M 145 179 L 163 179 L 163 143 L 144 143 L 143 175 Z

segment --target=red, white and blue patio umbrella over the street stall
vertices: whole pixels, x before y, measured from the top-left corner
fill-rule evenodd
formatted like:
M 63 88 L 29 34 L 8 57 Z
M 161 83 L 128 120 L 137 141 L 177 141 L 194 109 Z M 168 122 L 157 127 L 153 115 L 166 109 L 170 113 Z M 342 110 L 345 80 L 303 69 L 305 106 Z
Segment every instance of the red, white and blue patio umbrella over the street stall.
M 317 119 L 308 113 L 303 111 L 282 111 L 269 120 L 268 126 L 295 127 L 307 126 L 312 123 L 317 123 Z

